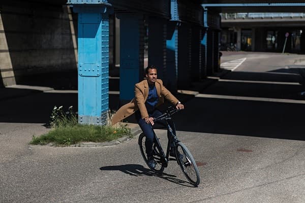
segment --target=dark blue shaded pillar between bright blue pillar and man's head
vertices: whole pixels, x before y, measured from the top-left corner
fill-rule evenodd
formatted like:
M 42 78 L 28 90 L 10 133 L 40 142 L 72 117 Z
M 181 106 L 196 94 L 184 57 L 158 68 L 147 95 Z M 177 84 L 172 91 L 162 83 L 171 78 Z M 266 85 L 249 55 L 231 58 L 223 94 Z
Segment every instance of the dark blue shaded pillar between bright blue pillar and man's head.
M 144 78 L 144 19 L 143 15 L 120 13 L 120 103 L 134 96 L 135 84 Z

